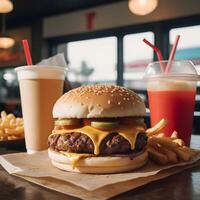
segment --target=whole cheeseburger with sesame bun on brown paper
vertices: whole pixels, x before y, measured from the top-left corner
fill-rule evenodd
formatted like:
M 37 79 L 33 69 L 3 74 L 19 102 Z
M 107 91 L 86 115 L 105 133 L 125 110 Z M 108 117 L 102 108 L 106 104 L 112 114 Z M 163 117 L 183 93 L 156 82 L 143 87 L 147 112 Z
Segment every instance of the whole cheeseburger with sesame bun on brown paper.
M 80 173 L 116 173 L 142 167 L 148 158 L 142 99 L 119 86 L 82 86 L 55 103 L 48 138 L 52 164 Z

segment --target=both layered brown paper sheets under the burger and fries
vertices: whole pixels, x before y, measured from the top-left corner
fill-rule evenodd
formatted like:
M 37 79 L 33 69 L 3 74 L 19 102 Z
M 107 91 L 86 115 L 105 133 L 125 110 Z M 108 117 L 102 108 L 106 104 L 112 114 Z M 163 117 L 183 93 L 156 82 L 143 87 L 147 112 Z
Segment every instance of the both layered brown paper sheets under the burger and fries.
M 93 175 L 61 171 L 51 165 L 47 151 L 29 155 L 17 153 L 0 156 L 8 173 L 43 187 L 81 199 L 108 199 L 151 181 L 178 173 L 200 164 L 200 153 L 189 162 L 158 166 L 148 162 L 132 172 Z

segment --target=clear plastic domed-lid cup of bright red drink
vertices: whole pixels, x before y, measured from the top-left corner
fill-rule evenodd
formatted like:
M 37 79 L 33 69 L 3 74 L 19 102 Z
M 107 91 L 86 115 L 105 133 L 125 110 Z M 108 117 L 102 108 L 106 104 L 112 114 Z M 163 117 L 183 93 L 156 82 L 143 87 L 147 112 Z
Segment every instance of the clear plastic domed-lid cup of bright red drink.
M 200 76 L 191 61 L 172 61 L 168 72 L 161 70 L 168 61 L 150 63 L 145 71 L 151 126 L 162 118 L 168 120 L 166 136 L 177 131 L 189 146 L 193 126 L 197 81 Z

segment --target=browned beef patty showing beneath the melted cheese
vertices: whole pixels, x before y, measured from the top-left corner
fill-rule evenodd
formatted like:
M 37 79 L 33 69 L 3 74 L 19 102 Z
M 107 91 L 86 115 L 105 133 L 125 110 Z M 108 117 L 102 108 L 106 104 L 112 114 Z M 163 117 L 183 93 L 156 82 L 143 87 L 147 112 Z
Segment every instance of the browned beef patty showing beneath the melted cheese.
M 56 151 L 70 153 L 94 153 L 94 144 L 85 134 L 79 132 L 51 135 L 48 139 L 49 147 Z M 134 151 L 143 150 L 147 144 L 147 136 L 141 132 L 136 138 Z M 131 153 L 130 143 L 117 132 L 110 133 L 100 145 L 100 155 Z

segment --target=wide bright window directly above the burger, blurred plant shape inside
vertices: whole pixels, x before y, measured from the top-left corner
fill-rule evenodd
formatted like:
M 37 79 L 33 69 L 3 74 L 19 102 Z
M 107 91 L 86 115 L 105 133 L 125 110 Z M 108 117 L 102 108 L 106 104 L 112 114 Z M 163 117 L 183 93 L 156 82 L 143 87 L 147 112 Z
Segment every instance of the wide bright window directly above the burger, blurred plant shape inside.
M 61 46 L 58 46 L 60 51 Z M 72 83 L 116 83 L 117 38 L 105 37 L 69 42 L 66 45 Z

